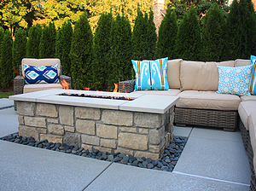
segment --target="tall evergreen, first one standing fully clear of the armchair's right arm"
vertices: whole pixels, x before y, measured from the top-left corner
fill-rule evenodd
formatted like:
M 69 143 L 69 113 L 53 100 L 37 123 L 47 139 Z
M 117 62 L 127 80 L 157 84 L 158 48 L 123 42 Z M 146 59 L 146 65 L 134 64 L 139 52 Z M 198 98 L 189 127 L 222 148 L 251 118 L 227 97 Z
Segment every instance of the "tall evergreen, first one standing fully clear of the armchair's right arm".
M 84 13 L 75 23 L 70 50 L 71 77 L 74 89 L 91 87 L 92 84 L 92 48 L 93 35 L 87 14 Z

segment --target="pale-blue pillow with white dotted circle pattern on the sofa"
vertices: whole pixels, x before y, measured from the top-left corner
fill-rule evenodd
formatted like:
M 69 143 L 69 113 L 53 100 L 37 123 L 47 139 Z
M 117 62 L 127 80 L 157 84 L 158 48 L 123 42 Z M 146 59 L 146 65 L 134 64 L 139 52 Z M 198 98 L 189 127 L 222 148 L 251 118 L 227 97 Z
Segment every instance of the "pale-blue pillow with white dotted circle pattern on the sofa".
M 246 67 L 218 67 L 218 91 L 216 93 L 250 96 L 251 73 L 251 65 Z

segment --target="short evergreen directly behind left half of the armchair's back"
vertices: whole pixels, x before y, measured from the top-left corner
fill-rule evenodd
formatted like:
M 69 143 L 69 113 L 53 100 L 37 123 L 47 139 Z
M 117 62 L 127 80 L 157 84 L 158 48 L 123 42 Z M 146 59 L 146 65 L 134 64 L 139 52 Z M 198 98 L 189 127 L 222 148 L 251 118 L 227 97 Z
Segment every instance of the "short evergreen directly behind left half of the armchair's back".
M 28 32 L 28 40 L 26 42 L 26 57 L 39 58 L 39 43 L 42 34 L 42 27 L 37 24 L 32 26 Z

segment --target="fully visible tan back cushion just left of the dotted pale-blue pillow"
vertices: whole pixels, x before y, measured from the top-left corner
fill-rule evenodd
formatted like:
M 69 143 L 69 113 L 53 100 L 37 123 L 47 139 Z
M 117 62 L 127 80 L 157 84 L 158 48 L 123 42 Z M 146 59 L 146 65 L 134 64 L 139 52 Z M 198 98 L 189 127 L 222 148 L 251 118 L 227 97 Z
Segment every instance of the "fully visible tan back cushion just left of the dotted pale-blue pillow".
M 218 67 L 214 62 L 182 61 L 180 81 L 182 90 L 217 91 Z

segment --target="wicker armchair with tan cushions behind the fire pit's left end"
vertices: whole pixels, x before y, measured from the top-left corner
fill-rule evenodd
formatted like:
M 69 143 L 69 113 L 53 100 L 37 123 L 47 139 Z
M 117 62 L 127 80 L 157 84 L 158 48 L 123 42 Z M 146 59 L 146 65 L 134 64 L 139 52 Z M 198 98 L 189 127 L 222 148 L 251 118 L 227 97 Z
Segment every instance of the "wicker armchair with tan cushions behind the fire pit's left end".
M 58 75 L 60 82 L 64 79 L 69 84 L 69 89 L 71 89 L 71 78 L 65 75 L 62 75 L 62 66 L 60 59 L 51 58 L 51 59 L 32 59 L 24 58 L 20 64 L 20 75 L 16 76 L 14 79 L 14 95 L 29 93 L 38 90 L 49 90 L 49 89 L 62 89 L 61 84 L 25 84 L 24 72 L 22 64 L 27 64 L 33 67 L 41 66 L 51 66 L 59 63 Z M 15 101 L 15 110 L 17 109 L 17 103 Z

